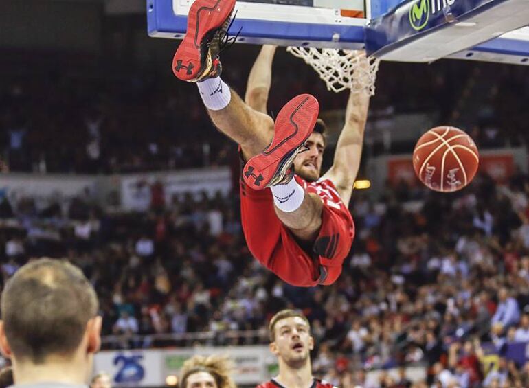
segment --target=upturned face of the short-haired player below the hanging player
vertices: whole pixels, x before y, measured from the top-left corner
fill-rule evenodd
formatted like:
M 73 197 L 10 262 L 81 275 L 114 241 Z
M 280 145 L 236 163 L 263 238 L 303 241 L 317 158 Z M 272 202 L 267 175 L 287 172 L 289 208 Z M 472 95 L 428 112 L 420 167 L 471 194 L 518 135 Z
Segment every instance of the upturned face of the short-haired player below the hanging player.
M 314 348 L 310 329 L 301 317 L 289 317 L 275 323 L 275 341 L 270 344 L 273 354 L 291 368 L 305 365 Z

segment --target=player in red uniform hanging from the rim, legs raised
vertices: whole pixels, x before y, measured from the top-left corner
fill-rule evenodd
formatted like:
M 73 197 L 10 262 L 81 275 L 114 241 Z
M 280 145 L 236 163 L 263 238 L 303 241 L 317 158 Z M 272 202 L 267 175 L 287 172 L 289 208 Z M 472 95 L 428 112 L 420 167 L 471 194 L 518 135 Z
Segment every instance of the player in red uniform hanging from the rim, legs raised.
M 241 218 L 254 257 L 289 284 L 333 284 L 354 237 L 348 203 L 370 95 L 350 95 L 333 166 L 320 176 L 326 139 L 317 100 L 298 95 L 281 109 L 275 124 L 266 114 L 274 47 L 262 48 L 245 102 L 221 79 L 218 54 L 234 5 L 235 0 L 192 4 L 173 71 L 180 80 L 197 82 L 215 126 L 240 146 L 245 161 Z

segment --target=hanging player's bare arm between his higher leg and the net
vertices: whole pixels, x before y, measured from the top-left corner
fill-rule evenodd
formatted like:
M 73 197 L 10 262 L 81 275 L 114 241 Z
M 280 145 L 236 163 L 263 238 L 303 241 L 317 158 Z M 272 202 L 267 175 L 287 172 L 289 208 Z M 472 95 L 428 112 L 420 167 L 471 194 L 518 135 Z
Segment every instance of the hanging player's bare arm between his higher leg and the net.
M 267 113 L 268 93 L 272 83 L 272 62 L 277 47 L 263 45 L 246 85 L 245 102 L 261 113 Z

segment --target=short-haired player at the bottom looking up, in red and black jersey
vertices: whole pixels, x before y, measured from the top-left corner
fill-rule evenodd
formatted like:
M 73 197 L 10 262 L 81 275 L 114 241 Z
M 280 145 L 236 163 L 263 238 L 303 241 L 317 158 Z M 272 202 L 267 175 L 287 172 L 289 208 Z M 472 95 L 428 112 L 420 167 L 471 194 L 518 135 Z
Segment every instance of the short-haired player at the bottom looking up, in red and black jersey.
M 278 357 L 279 374 L 257 388 L 335 388 L 313 377 L 311 326 L 302 313 L 282 310 L 269 323 L 270 351 Z

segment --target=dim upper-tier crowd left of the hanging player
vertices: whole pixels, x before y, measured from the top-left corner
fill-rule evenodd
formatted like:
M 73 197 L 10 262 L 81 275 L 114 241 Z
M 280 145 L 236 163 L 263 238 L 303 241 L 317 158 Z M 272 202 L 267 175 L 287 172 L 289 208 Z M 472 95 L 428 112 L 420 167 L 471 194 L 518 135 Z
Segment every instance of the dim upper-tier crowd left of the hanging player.
M 148 80 L 12 82 L 0 89 L 2 156 L 12 172 L 108 174 L 225 164 L 229 142 L 199 111 L 196 97 L 184 102 L 179 89 L 159 90 Z

